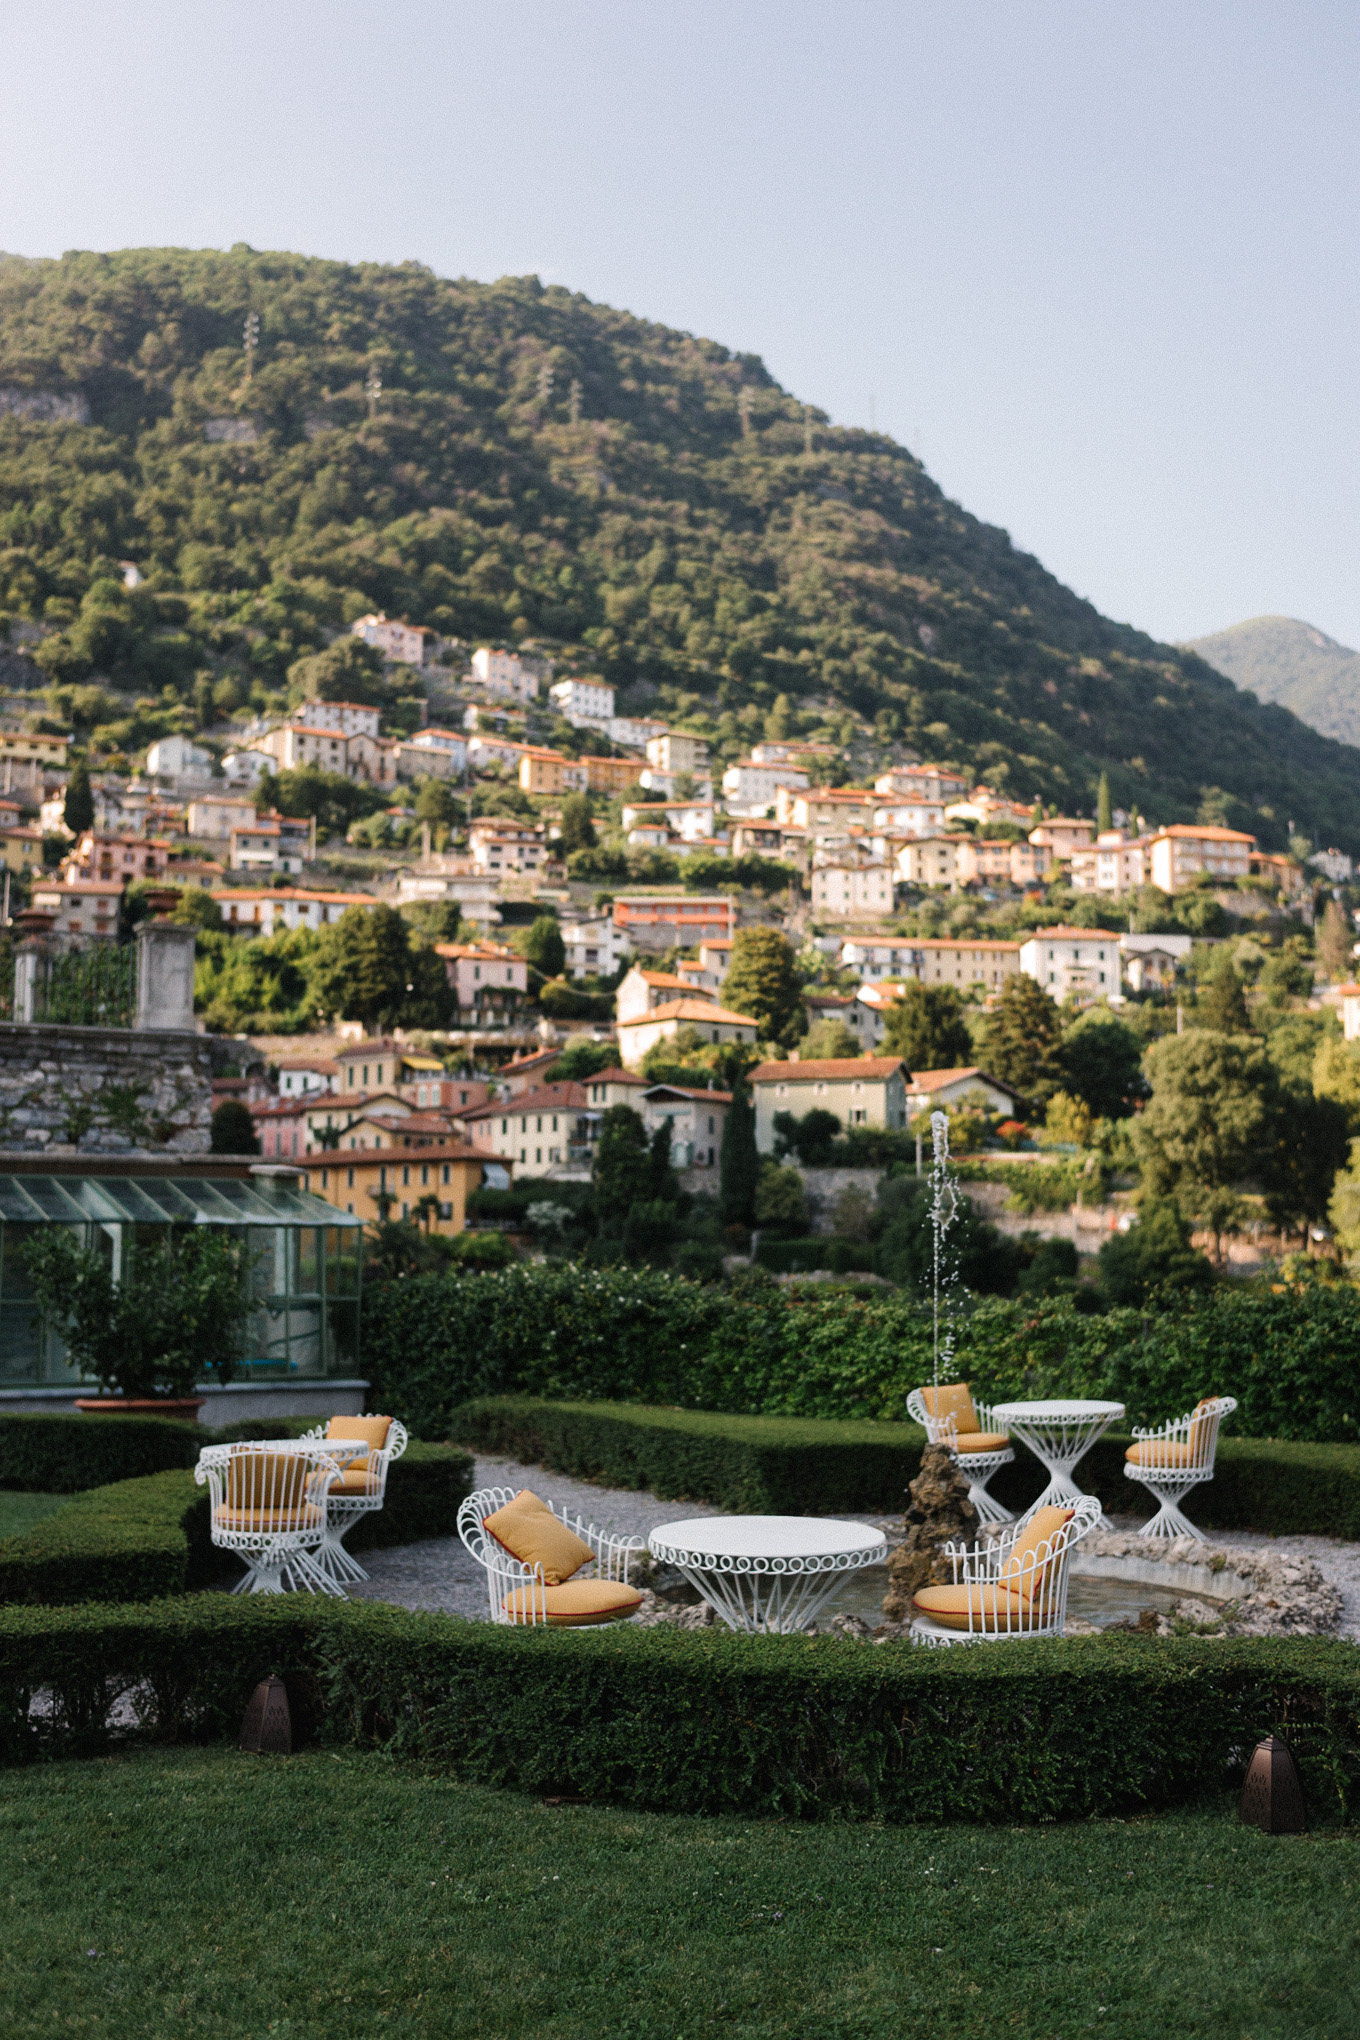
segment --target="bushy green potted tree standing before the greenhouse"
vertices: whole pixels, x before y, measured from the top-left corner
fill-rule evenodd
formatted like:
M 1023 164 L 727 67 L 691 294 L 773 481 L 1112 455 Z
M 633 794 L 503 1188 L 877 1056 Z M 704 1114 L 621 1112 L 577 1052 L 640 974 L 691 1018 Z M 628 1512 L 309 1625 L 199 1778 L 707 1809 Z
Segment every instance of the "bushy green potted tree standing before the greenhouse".
M 24 1255 L 45 1330 L 102 1393 L 77 1399 L 100 1416 L 196 1420 L 196 1383 L 230 1381 L 251 1312 L 241 1240 L 204 1226 L 139 1244 L 114 1277 L 110 1261 L 53 1226 Z

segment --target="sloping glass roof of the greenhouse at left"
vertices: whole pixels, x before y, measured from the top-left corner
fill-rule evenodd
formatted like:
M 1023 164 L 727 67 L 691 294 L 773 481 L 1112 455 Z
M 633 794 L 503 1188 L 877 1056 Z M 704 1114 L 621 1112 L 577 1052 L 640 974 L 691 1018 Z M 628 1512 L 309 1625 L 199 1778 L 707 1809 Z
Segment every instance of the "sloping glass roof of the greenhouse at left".
M 0 1220 L 137 1226 L 349 1226 L 363 1220 L 308 1189 L 232 1177 L 0 1175 Z

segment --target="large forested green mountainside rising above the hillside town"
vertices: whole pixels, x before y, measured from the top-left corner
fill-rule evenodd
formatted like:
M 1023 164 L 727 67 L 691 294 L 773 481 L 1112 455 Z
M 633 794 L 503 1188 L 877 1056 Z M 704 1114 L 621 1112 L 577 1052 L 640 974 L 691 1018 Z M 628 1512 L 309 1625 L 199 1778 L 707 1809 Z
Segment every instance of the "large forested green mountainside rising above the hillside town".
M 259 700 L 383 608 L 534 639 L 730 753 L 769 716 L 858 726 L 867 763 L 909 743 L 1085 810 L 1107 769 L 1154 820 L 1360 851 L 1360 751 L 1099 616 L 759 359 L 534 277 L 0 259 L 0 547 L 77 728 L 118 708 L 98 679 L 161 714 Z

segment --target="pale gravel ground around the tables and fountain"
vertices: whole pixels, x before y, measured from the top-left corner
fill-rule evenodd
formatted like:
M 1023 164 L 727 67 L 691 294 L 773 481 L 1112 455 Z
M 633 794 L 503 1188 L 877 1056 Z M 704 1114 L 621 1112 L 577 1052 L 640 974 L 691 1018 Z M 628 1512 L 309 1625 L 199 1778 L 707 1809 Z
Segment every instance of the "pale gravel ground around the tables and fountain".
M 593 1487 L 571 1481 L 546 1467 L 520 1467 L 510 1459 L 477 1459 L 477 1487 L 532 1487 L 548 1501 L 565 1503 L 616 1536 L 646 1538 L 657 1524 L 683 1522 L 687 1516 L 724 1516 L 701 1501 L 659 1501 L 636 1489 Z M 860 1516 L 856 1522 L 883 1524 L 883 1518 Z M 1117 1530 L 1138 1530 L 1138 1516 L 1111 1516 Z M 1252 1550 L 1297 1552 L 1313 1559 L 1323 1579 L 1340 1587 L 1346 1599 L 1342 1636 L 1360 1642 L 1360 1544 L 1344 1544 L 1325 1536 L 1264 1536 L 1254 1530 L 1209 1530 L 1211 1544 L 1246 1544 Z M 402 1544 L 396 1550 L 363 1554 L 369 1579 L 351 1587 L 351 1595 L 371 1601 L 396 1601 L 400 1608 L 438 1608 L 453 1616 L 487 1616 L 485 1573 L 475 1565 L 463 1540 L 430 1538 L 424 1544 Z

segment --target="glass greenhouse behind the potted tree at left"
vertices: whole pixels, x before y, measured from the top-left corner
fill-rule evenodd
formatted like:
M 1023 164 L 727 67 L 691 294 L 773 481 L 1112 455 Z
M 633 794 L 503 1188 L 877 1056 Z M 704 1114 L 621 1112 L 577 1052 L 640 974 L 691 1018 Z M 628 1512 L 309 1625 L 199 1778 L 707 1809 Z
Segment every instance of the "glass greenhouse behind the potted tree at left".
M 0 1389 L 71 1387 L 43 1332 L 24 1251 L 39 1226 L 69 1226 L 110 1257 L 116 1279 L 177 1226 L 224 1226 L 245 1242 L 253 1310 L 239 1379 L 302 1381 L 353 1369 L 363 1220 L 298 1189 L 292 1173 L 0 1175 Z

